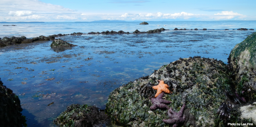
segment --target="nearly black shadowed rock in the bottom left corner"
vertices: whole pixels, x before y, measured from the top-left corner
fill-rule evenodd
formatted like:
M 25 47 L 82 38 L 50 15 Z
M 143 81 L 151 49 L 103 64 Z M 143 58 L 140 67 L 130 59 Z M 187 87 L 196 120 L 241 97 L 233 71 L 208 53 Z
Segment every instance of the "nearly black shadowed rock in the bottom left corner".
M 0 78 L 0 127 L 26 127 L 21 111 L 20 99 Z

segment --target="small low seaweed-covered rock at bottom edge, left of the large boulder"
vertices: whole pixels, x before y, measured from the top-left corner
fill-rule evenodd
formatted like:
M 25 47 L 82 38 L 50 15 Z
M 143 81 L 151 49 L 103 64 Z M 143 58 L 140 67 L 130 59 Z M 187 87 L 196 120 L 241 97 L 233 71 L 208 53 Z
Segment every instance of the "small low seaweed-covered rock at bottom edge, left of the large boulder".
M 102 127 L 109 125 L 110 119 L 96 106 L 71 105 L 62 112 L 53 123 L 60 127 Z

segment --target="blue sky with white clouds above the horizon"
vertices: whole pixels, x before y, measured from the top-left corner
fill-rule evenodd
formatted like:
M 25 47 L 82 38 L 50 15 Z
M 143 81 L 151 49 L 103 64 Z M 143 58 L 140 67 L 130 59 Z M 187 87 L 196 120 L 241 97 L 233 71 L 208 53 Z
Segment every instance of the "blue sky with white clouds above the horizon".
M 0 21 L 256 21 L 256 0 L 0 0 Z

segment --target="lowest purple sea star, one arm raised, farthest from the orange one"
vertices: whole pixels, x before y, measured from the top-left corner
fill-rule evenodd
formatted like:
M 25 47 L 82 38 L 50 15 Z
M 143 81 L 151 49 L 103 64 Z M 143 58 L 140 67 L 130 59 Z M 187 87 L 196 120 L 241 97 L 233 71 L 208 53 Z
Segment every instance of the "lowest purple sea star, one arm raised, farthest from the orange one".
M 185 115 L 183 115 L 185 106 L 186 105 L 183 104 L 183 106 L 181 107 L 181 110 L 178 113 L 173 111 L 172 108 L 170 108 L 167 112 L 170 119 L 163 119 L 163 122 L 173 124 L 172 127 L 177 127 L 179 123 L 183 123 L 186 119 Z

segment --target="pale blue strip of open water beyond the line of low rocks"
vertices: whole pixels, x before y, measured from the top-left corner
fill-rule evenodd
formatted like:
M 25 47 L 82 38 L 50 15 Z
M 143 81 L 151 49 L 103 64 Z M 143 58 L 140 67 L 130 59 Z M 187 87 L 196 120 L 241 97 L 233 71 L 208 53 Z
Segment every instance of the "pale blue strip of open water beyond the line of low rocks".
M 140 22 L 113 22 L 113 23 L 0 23 L 0 38 L 5 36 L 26 36 L 34 38 L 40 35 L 71 34 L 74 32 L 102 32 L 106 30 L 133 32 L 135 30 L 148 31 L 159 28 L 174 30 L 178 29 L 214 29 L 214 30 L 237 30 L 239 28 L 255 29 L 256 21 L 170 21 L 148 22 L 149 25 L 139 25 Z M 3 26 L 17 25 L 17 26 Z M 157 26 L 160 25 L 160 26 Z M 166 25 L 166 26 L 164 26 Z

